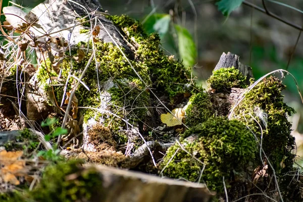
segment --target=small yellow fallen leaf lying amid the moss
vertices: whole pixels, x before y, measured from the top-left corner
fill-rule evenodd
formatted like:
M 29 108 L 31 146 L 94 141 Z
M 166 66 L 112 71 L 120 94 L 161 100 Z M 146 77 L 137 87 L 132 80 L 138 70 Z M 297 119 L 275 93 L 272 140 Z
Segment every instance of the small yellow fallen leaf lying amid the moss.
M 182 108 L 176 108 L 172 111 L 173 115 L 170 113 L 162 114 L 161 121 L 167 126 L 176 126 L 182 124 L 182 119 L 185 116 L 185 112 Z M 175 116 L 174 116 L 175 115 Z

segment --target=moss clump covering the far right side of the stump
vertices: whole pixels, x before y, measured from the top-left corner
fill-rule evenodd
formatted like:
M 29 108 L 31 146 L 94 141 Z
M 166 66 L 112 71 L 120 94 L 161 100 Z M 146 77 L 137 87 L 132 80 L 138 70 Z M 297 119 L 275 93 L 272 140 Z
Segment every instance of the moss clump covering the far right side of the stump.
M 262 148 L 276 174 L 290 171 L 294 159 L 294 137 L 290 134 L 291 124 L 287 118 L 295 111 L 283 102 L 281 91 L 285 87 L 276 77 L 263 79 L 245 94 L 233 114 L 254 132 L 260 142 L 263 137 Z

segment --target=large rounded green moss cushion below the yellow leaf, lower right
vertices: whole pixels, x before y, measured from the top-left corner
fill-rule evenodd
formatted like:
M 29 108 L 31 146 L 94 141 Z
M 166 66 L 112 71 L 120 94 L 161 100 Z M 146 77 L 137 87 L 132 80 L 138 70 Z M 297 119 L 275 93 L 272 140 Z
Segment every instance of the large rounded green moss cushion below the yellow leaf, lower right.
M 201 179 L 219 193 L 224 188 L 223 176 L 228 186 L 232 176 L 245 171 L 257 151 L 255 137 L 245 125 L 223 117 L 210 118 L 182 137 L 185 139 L 180 143 L 187 152 L 178 143 L 171 146 L 160 164 L 165 168 L 163 174 L 196 182 L 203 171 Z

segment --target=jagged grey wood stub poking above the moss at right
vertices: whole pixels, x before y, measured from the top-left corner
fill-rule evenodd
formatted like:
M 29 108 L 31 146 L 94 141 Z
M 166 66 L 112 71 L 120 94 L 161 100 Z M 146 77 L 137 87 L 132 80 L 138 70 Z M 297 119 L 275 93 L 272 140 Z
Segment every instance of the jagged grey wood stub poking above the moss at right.
M 220 57 L 218 64 L 214 70 L 221 68 L 235 67 L 238 69 L 244 76 L 246 76 L 246 84 L 249 85 L 249 79 L 254 77 L 252 76 L 251 67 L 243 65 L 239 62 L 239 56 L 228 52 L 227 54 L 223 53 Z

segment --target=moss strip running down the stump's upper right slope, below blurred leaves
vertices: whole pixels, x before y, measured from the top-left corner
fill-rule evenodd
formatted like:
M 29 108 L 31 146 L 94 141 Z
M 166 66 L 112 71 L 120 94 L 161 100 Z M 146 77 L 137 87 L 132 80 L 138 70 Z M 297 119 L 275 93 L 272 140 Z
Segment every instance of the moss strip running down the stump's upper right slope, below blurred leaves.
M 148 67 L 151 82 L 158 93 L 173 98 L 178 94 L 194 90 L 188 84 L 191 78 L 190 68 L 184 67 L 179 61 L 163 53 L 158 34 L 146 34 L 138 21 L 125 15 L 107 16 L 107 18 L 124 32 L 130 43 L 137 47 L 135 59 L 142 61 Z

